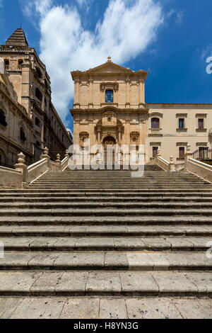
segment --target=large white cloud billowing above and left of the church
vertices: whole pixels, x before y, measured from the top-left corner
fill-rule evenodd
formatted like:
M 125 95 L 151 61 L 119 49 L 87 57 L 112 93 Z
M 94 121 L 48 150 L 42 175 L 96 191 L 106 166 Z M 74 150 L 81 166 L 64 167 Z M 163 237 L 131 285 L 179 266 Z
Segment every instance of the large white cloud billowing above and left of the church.
M 110 0 L 95 31 L 83 28 L 74 6 L 54 5 L 52 0 L 33 4 L 40 16 L 40 57 L 47 65 L 53 103 L 63 120 L 73 98 L 70 71 L 95 67 L 108 55 L 118 64 L 134 59 L 155 39 L 163 23 L 162 8 L 155 0 Z

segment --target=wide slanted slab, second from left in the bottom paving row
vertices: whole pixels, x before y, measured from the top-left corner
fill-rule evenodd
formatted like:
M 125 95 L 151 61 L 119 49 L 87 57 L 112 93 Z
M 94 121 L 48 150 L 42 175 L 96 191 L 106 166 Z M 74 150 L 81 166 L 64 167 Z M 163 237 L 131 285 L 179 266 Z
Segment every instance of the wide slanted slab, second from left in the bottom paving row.
M 9 319 L 58 319 L 66 298 L 25 298 Z

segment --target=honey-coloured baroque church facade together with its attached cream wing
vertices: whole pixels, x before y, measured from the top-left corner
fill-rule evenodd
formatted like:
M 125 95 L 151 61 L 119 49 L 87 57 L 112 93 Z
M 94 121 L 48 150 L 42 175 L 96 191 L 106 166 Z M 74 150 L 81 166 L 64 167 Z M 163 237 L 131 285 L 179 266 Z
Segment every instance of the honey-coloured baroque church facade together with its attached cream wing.
M 187 145 L 194 157 L 211 158 L 212 104 L 146 103 L 148 72 L 107 62 L 85 72 L 71 72 L 74 81 L 73 142 L 92 145 L 144 145 L 145 163 L 158 149 L 175 164 L 184 162 Z

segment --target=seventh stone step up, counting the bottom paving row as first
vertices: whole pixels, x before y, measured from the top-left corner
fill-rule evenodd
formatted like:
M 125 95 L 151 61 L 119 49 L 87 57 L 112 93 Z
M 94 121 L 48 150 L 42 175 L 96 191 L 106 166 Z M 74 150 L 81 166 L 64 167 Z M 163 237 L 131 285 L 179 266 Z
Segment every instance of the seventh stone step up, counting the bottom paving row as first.
M 97 205 L 98 206 L 98 205 Z M 49 207 L 49 205 L 48 205 Z M 186 205 L 187 207 L 187 205 Z M 91 206 L 92 208 L 92 206 Z M 145 208 L 145 209 L 143 209 Z M 123 217 L 128 217 L 131 215 L 134 216 L 148 216 L 148 218 L 153 217 L 153 216 L 177 216 L 180 215 L 181 218 L 185 215 L 194 215 L 194 216 L 199 216 L 200 218 L 202 216 L 211 216 L 212 210 L 209 208 L 146 208 L 143 205 L 143 208 L 116 208 L 111 209 L 107 207 L 102 207 L 102 208 L 95 208 L 95 209 L 89 209 L 89 208 L 0 208 L 0 217 L 6 217 L 6 216 L 92 216 L 96 215 L 99 217 L 102 216 L 123 216 Z M 212 221 L 211 221 L 212 222 Z

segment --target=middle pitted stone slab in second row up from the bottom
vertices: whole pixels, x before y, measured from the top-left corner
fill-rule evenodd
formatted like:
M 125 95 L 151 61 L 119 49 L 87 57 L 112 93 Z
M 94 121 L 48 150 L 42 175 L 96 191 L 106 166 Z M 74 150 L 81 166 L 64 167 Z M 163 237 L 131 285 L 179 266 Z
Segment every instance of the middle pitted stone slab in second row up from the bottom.
M 91 272 L 86 283 L 87 293 L 121 293 L 122 287 L 119 273 Z

